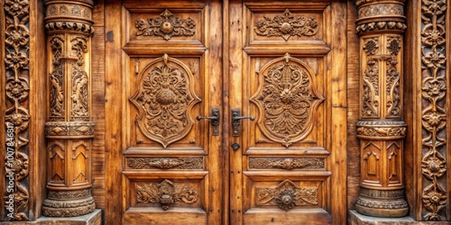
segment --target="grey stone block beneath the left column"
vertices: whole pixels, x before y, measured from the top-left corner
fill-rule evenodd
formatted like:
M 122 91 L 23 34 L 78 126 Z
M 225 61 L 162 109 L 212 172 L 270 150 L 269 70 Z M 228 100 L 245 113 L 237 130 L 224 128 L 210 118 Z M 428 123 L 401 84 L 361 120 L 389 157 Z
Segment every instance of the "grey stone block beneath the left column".
M 102 211 L 96 209 L 95 211 L 77 217 L 45 217 L 42 216 L 36 220 L 35 224 L 39 225 L 101 225 Z

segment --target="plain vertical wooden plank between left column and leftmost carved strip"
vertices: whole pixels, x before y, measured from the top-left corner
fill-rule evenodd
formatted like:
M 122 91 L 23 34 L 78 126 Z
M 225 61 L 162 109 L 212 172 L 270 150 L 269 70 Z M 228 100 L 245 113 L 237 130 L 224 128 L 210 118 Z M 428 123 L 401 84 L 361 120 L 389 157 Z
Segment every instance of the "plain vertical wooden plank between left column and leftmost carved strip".
M 45 62 L 45 32 L 43 4 L 39 0 L 30 1 L 30 220 L 41 216 L 41 205 L 45 199 L 46 160 L 44 125 L 46 121 L 47 95 L 41 94 L 47 85 Z

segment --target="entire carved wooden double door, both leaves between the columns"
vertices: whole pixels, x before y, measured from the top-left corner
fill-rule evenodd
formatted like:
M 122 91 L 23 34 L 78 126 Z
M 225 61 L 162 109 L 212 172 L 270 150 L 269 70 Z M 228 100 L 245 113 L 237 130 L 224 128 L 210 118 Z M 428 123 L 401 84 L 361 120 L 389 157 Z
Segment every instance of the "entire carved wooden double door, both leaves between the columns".
M 342 1 L 107 1 L 106 223 L 342 224 Z

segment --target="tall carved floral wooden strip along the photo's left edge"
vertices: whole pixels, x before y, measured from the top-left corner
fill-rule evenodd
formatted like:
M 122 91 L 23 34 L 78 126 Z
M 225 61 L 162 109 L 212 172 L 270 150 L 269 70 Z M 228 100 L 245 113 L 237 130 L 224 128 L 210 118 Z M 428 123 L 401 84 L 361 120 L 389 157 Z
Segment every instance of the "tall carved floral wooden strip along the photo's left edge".
M 29 220 L 30 2 L 5 0 L 5 168 L 1 184 L 5 211 L 0 220 Z M 2 84 L 3 85 L 3 84 Z

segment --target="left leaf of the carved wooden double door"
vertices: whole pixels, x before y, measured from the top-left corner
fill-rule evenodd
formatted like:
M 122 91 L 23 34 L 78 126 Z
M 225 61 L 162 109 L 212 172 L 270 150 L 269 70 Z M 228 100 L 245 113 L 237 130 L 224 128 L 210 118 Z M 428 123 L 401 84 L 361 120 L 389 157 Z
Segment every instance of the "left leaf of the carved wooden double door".
M 109 155 L 106 224 L 221 223 L 220 118 L 204 118 L 222 110 L 221 7 L 106 4 L 106 114 L 120 135 L 107 132 L 121 137 L 107 141 L 120 154 Z

